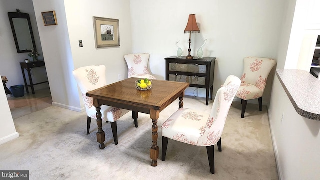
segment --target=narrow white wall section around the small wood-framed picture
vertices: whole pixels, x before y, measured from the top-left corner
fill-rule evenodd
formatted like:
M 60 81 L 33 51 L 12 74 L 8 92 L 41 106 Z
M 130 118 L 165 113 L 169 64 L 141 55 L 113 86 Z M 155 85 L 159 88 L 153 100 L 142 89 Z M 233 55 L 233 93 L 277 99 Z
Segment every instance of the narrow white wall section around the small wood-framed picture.
M 52 104 L 80 111 L 77 87 L 71 75 L 73 58 L 63 0 L 33 0 L 35 18 L 52 95 Z M 58 25 L 44 26 L 41 12 L 55 10 Z

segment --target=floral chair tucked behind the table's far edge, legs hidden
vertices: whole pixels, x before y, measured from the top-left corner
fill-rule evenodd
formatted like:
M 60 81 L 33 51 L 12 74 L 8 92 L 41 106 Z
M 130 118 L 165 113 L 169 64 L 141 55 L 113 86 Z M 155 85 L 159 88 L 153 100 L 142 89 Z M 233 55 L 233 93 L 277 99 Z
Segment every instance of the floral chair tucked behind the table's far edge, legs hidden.
M 149 57 L 150 55 L 147 53 L 124 55 L 124 59 L 128 65 L 128 78 L 137 77 L 156 79 L 148 70 Z

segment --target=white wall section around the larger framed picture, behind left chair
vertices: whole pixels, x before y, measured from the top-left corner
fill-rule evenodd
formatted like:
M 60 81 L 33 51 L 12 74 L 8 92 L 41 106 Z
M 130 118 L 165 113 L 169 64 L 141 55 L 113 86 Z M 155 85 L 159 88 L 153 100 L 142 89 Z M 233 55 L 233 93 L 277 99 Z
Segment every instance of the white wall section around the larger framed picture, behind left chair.
M 107 83 L 127 77 L 124 54 L 132 52 L 129 0 L 65 0 L 67 27 L 74 67 L 104 64 Z M 79 10 L 85 9 L 85 10 Z M 119 47 L 95 48 L 93 16 L 119 20 Z M 82 40 L 83 47 L 78 41 Z

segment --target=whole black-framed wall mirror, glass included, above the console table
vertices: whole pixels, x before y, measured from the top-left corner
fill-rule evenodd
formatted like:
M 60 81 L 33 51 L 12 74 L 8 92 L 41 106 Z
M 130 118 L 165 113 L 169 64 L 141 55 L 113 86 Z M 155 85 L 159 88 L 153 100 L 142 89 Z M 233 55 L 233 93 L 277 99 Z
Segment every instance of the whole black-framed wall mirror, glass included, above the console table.
M 29 14 L 16 9 L 16 12 L 8 12 L 8 15 L 18 53 L 36 50 Z

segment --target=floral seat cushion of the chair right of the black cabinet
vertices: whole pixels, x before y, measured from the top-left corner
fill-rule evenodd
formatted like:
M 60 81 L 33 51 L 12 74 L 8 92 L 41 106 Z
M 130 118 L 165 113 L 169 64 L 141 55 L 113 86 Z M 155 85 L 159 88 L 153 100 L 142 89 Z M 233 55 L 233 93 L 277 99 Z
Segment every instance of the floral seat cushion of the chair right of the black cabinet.
M 248 83 L 241 83 L 236 96 L 243 100 L 250 100 L 262 97 L 262 94 L 263 91 L 257 86 Z

